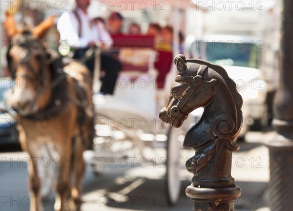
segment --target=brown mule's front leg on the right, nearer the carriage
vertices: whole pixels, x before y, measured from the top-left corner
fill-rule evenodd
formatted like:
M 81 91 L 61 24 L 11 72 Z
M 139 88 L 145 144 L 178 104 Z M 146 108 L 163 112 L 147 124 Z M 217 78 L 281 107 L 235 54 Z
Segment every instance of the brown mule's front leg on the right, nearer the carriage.
M 64 140 L 64 142 L 56 146 L 59 152 L 59 178 L 57 181 L 57 191 L 59 193 L 59 198 L 56 206 L 60 207 L 60 211 L 71 210 L 71 152 L 72 152 L 72 142 L 70 139 Z

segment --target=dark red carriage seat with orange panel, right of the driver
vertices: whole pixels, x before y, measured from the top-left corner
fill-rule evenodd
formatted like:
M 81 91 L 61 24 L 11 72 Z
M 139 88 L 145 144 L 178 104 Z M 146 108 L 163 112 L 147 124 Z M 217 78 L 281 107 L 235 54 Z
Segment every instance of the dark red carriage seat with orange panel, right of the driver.
M 122 72 L 150 72 L 156 69 L 156 87 L 164 88 L 167 73 L 173 63 L 170 51 L 157 49 L 154 36 L 114 35 L 113 48 L 119 51 Z

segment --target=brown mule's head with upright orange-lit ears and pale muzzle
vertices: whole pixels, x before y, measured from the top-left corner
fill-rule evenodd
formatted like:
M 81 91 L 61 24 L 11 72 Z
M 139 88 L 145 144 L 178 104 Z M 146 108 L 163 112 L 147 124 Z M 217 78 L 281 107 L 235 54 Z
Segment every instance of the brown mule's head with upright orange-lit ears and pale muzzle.
M 46 53 L 42 41 L 45 33 L 53 25 L 54 16 L 42 21 L 34 28 L 19 29 L 13 15 L 6 11 L 4 27 L 10 38 L 7 61 L 12 78 L 15 80 L 13 95 L 9 104 L 20 115 L 34 114 L 48 103 L 51 95 L 48 88 L 50 74 L 45 71 Z M 46 84 L 44 84 L 46 83 Z M 37 95 L 42 93 L 42 96 Z

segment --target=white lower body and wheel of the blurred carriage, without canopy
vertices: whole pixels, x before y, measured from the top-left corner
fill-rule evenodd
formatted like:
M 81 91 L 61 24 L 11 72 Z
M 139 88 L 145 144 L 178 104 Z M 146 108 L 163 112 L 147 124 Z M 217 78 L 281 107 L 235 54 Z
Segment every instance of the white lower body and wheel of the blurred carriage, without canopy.
M 127 39 L 133 38 L 123 37 L 123 40 Z M 138 36 L 136 39 L 148 38 Z M 95 70 L 93 100 L 96 136 L 94 153 L 89 159 L 91 169 L 97 174 L 117 172 L 121 166 L 111 166 L 109 161 L 119 164 L 124 159 L 122 165 L 125 167 L 125 160 L 130 157 L 144 159 L 151 165 L 165 166 L 167 199 L 170 205 L 174 205 L 181 188 L 179 172 L 184 165 L 180 166 L 180 148 L 184 135 L 182 129 L 172 128 L 159 120 L 159 111 L 164 107 L 169 94 L 169 89 L 159 90 L 156 87 L 158 71 L 154 66 L 159 52 L 151 48 L 136 48 L 129 52 L 124 49 L 121 52 L 120 61 L 124 67 L 117 80 L 114 95 L 97 94 L 98 75 L 101 71 L 98 68 Z M 96 55 L 97 63 L 99 53 Z M 172 52 L 167 55 L 169 68 L 173 64 Z M 133 167 L 133 163 L 131 165 Z

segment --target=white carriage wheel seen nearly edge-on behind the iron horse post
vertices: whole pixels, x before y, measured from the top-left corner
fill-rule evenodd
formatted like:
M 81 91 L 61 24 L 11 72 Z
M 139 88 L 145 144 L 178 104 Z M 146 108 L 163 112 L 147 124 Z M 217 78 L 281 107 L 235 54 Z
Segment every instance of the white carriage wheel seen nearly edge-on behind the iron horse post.
M 167 133 L 167 199 L 169 205 L 175 205 L 179 199 L 181 180 L 180 180 L 180 148 L 178 140 L 180 128 L 170 127 Z

